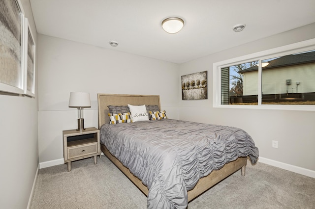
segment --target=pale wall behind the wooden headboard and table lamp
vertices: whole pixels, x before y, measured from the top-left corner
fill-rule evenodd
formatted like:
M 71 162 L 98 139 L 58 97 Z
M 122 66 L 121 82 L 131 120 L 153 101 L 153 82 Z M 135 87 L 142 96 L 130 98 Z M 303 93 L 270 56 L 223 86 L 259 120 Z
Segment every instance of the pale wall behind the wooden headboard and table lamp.
M 62 131 L 77 128 L 71 91 L 90 93 L 85 127 L 98 126 L 97 93 L 160 95 L 162 108 L 177 117 L 177 64 L 41 34 L 37 52 L 40 167 L 63 163 Z

